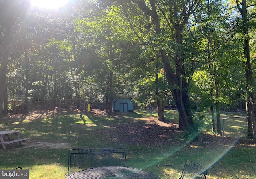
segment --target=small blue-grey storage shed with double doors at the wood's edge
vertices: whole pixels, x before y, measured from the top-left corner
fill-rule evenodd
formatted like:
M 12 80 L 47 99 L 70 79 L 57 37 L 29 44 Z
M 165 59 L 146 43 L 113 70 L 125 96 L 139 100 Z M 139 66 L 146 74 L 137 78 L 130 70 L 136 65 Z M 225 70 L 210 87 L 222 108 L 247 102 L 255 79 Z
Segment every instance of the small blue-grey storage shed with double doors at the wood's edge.
M 112 110 L 114 112 L 133 112 L 133 103 L 130 99 L 115 99 L 112 101 Z

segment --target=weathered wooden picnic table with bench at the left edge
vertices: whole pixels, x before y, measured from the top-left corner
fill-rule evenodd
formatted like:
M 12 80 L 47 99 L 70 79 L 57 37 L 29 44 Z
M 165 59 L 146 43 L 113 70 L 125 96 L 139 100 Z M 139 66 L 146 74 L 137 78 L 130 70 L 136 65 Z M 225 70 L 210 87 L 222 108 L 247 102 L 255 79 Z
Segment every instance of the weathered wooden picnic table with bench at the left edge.
M 23 138 L 21 139 L 19 134 L 20 130 L 6 130 L 6 131 L 0 131 L 0 144 L 3 146 L 4 149 L 6 149 L 5 144 L 12 144 L 14 142 L 19 142 L 21 145 L 21 141 L 28 140 L 29 138 Z M 10 138 L 9 135 L 16 135 L 15 139 Z M 7 137 L 8 141 L 4 140 L 4 137 Z

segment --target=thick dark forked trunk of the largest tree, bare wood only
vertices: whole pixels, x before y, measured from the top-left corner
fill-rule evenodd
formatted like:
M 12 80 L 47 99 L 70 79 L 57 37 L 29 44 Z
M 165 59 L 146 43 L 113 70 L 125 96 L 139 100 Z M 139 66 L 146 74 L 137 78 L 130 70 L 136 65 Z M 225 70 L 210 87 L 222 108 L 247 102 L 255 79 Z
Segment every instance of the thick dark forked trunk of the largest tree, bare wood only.
M 150 4 L 152 7 L 152 18 L 155 24 L 156 34 L 161 34 L 162 30 L 160 27 L 160 21 L 157 15 L 156 4 L 154 0 L 150 0 Z M 181 32 L 182 26 L 176 26 L 176 43 L 182 44 L 181 40 Z M 160 54 L 162 57 L 162 61 L 164 64 L 164 71 L 166 73 L 166 78 L 168 84 L 170 85 L 172 96 L 174 98 L 174 102 L 177 106 L 179 112 L 179 129 L 186 130 L 189 126 L 193 126 L 193 120 L 190 111 L 190 100 L 188 96 L 188 86 L 185 79 L 185 69 L 184 69 L 184 60 L 180 54 L 176 54 L 176 74 L 172 70 L 170 66 L 170 62 L 167 56 L 167 52 L 163 49 L 160 50 Z

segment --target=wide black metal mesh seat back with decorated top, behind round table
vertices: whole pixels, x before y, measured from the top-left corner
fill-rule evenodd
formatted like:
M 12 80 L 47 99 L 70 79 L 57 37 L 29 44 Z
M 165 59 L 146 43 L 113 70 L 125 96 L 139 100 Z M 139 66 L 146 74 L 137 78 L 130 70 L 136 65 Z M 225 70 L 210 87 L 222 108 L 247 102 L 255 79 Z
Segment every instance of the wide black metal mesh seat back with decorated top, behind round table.
M 126 167 L 125 149 L 95 148 L 68 151 L 68 176 L 82 169 L 106 166 Z

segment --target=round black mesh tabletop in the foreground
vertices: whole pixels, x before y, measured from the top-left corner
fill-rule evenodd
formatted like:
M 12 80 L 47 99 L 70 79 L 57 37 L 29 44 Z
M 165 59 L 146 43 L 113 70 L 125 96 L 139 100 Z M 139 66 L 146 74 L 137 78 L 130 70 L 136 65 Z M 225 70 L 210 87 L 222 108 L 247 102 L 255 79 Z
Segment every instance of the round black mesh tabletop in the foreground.
M 95 167 L 73 173 L 67 179 L 160 179 L 156 175 L 131 167 Z

